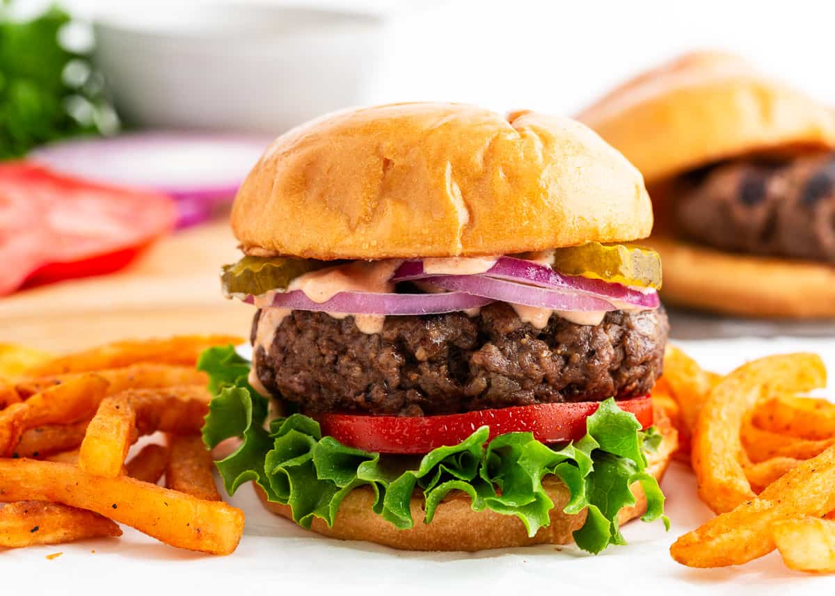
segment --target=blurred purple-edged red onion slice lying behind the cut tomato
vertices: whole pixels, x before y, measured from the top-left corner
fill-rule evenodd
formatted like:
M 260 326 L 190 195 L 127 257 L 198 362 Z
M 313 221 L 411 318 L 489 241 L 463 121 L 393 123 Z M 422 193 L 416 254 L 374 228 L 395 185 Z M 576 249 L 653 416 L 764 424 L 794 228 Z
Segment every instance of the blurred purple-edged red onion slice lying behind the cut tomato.
M 169 194 L 183 228 L 229 203 L 271 140 L 149 131 L 48 144 L 29 157 L 63 174 Z

